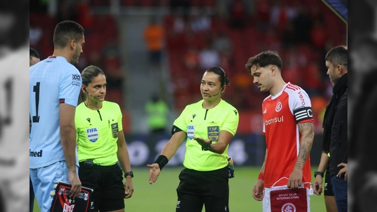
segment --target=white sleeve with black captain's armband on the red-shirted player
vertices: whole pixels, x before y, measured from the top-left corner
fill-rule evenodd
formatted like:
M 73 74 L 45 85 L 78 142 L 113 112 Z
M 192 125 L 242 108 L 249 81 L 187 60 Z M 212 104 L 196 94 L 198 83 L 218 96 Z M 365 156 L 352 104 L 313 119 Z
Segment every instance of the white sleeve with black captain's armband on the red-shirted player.
M 313 123 L 310 98 L 304 90 L 298 89 L 289 95 L 289 106 L 297 124 Z

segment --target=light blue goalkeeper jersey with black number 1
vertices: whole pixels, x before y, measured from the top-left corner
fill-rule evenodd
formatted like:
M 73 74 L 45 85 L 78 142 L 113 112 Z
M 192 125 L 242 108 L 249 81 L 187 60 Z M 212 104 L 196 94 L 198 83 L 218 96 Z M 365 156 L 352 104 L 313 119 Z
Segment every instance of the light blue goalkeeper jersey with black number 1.
M 31 169 L 65 160 L 60 141 L 59 104 L 76 107 L 81 84 L 80 72 L 64 57 L 49 57 L 30 67 Z

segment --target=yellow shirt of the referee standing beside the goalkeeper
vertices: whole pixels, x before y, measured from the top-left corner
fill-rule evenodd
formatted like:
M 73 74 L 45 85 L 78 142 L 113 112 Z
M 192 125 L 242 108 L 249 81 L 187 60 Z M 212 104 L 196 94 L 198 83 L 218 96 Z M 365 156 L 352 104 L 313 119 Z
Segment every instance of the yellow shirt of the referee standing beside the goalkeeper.
M 93 163 L 110 166 L 118 161 L 118 132 L 122 128 L 122 113 L 118 104 L 103 101 L 102 108 L 92 110 L 81 103 L 76 108 L 78 161 L 93 159 Z

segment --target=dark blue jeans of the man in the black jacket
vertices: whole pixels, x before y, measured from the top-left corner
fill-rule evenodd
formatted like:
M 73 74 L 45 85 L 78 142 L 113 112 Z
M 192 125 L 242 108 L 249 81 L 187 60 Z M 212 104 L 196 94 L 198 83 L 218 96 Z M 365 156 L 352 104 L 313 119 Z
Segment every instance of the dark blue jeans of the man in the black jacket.
M 338 208 L 338 212 L 347 212 L 347 181 L 344 178 L 331 176 L 331 185 L 333 186 L 333 193 Z

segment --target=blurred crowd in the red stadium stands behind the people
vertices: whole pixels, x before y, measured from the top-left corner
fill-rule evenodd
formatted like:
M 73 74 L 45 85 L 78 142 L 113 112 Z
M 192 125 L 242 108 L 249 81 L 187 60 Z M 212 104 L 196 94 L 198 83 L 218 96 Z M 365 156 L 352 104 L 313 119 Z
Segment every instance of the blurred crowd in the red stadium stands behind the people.
M 136 8 L 136 11 L 137 8 L 167 8 L 163 14 L 150 15 L 149 25 L 139 34 L 146 42 L 150 70 L 126 68 L 128 59 L 122 51 L 127 52 L 127 49 L 120 47 L 125 38 L 119 33 L 123 27 L 117 19 L 119 11 L 118 15 L 111 12 L 114 2 L 119 8 Z M 223 99 L 244 115 L 244 118 L 240 116 L 240 126 L 260 121 L 257 128 L 241 127 L 240 132 L 259 131 L 261 103 L 269 94 L 259 92 L 244 66 L 249 57 L 275 50 L 283 60 L 283 78 L 307 91 L 316 132 L 322 130 L 323 112 L 332 95 L 324 58 L 330 48 L 346 45 L 347 29 L 321 1 L 81 0 L 56 3 L 58 10 L 54 15 L 46 12 L 48 6 L 43 5 L 43 1 L 34 5 L 35 12 L 30 14 L 30 47 L 38 49 L 42 58 L 46 58 L 53 52 L 51 38 L 56 23 L 66 19 L 80 23 L 85 29 L 86 45 L 77 68 L 81 71 L 88 65 L 101 67 L 109 85 L 106 100 L 120 104 L 126 113 L 124 100 L 130 91 L 125 91 L 124 83 L 132 80 L 130 72 L 167 69 L 169 80 L 161 83 L 170 86 L 159 94 L 162 100 L 166 100 L 166 94 L 171 94 L 173 101 L 169 106 L 179 114 L 187 104 L 201 99 L 199 82 L 203 72 L 220 66 L 230 79 Z M 93 14 L 95 8 L 110 9 L 108 14 Z M 124 116 L 124 119 L 132 117 Z M 130 123 L 130 120 L 124 122 Z

